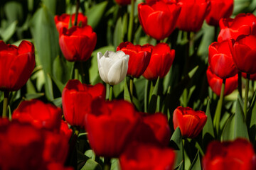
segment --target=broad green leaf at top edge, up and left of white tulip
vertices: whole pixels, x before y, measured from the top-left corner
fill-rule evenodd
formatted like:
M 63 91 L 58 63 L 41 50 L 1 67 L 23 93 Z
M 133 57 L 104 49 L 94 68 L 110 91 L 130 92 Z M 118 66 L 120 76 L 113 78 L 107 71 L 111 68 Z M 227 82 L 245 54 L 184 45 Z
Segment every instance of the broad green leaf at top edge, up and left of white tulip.
M 102 1 L 99 4 L 92 6 L 88 11 L 86 11 L 86 16 L 88 18 L 88 25 L 92 26 L 92 28 L 96 28 L 100 19 L 102 18 L 105 8 L 107 7 L 108 1 Z

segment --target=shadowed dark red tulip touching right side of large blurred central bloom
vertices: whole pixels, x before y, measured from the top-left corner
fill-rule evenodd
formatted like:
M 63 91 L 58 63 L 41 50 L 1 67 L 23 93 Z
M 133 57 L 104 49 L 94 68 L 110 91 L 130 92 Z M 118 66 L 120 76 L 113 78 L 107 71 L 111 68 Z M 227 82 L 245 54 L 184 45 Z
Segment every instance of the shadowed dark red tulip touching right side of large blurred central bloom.
M 142 119 L 134 132 L 134 140 L 167 147 L 170 138 L 171 130 L 166 115 L 142 113 Z

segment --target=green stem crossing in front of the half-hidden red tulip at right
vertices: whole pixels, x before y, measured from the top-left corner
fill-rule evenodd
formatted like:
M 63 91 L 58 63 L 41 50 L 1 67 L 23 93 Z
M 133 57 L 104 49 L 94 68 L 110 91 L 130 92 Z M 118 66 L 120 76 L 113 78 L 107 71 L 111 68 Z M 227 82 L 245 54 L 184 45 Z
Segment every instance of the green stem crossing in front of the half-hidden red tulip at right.
M 224 91 L 225 91 L 225 79 L 223 79 L 223 83 L 221 85 L 220 99 L 218 101 L 217 108 L 215 110 L 214 120 L 213 120 L 213 124 L 217 132 L 217 136 L 219 135 L 219 132 L 220 132 L 220 115 L 221 115 L 221 108 L 223 105 Z

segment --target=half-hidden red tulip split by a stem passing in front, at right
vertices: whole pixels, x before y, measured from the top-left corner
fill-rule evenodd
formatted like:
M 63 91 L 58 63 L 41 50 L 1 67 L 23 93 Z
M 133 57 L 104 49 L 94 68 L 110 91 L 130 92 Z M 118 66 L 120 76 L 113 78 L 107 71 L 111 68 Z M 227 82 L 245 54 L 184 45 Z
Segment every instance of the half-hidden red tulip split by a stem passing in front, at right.
M 221 79 L 216 74 L 214 74 L 213 71 L 210 69 L 210 66 L 206 71 L 206 76 L 207 76 L 210 89 L 212 89 L 215 94 L 220 96 L 223 79 Z M 238 74 L 236 74 L 234 77 L 230 77 L 225 80 L 224 96 L 231 94 L 235 89 L 237 89 L 237 87 L 238 87 Z

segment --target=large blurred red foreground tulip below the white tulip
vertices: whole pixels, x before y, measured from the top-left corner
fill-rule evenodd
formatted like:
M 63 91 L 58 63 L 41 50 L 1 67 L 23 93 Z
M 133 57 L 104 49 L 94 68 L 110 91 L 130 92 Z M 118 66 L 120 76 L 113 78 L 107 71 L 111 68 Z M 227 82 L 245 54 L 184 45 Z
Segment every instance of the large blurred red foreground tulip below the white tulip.
M 92 113 L 85 115 L 92 150 L 98 156 L 119 157 L 129 144 L 138 120 L 139 114 L 127 101 L 94 100 Z

